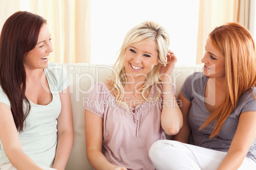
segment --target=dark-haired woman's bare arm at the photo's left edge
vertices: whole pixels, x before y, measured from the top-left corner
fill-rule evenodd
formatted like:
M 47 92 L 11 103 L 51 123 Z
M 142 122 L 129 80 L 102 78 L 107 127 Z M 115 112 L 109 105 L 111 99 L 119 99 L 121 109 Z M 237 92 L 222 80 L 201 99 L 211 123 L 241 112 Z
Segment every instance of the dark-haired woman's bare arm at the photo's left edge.
M 0 103 L 0 110 L 0 140 L 3 144 L 4 153 L 10 160 L 10 163 L 20 170 L 43 170 L 22 150 L 10 107 Z

